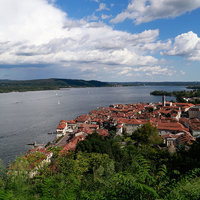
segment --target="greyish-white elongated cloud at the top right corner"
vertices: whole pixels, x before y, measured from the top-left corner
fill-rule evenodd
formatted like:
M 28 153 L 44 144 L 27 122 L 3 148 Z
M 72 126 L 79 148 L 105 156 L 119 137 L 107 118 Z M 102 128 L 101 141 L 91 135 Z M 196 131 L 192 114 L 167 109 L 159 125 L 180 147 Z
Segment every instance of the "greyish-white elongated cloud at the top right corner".
M 132 0 L 127 9 L 111 20 L 132 19 L 135 24 L 162 18 L 174 18 L 200 7 L 199 0 Z

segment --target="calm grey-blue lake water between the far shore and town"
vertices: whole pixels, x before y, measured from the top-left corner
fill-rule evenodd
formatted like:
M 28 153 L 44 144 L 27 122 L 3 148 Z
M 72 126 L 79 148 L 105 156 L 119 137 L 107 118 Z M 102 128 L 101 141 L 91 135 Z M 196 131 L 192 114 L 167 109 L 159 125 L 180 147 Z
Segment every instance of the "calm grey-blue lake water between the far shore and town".
M 116 103 L 159 102 L 154 90 L 185 87 L 71 88 L 59 91 L 0 94 L 0 158 L 8 164 L 28 151 L 28 143 L 47 143 L 62 119 L 71 120 L 97 107 Z M 168 100 L 174 99 L 168 98 Z

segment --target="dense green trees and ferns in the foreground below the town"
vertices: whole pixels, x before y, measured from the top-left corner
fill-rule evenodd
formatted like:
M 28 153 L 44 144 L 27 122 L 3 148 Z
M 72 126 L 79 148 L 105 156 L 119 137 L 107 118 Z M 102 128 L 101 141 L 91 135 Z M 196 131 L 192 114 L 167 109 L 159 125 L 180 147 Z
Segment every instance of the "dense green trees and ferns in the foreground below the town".
M 200 199 L 200 141 L 174 154 L 158 148 L 159 141 L 147 124 L 132 136 L 94 133 L 76 152 L 60 154 L 61 148 L 51 147 L 51 164 L 32 179 L 24 167 L 9 173 L 1 167 L 0 200 Z

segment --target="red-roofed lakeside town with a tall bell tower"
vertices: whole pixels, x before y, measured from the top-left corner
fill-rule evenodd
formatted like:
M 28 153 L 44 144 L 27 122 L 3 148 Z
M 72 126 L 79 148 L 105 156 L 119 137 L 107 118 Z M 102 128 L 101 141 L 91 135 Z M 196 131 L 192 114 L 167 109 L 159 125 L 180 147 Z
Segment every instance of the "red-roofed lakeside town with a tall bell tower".
M 165 148 L 176 151 L 181 145 L 189 146 L 200 136 L 200 105 L 167 102 L 163 96 L 160 103 L 100 107 L 74 120 L 61 120 L 56 128 L 56 139 L 45 147 L 62 147 L 61 154 L 67 153 L 74 151 L 80 141 L 94 132 L 102 137 L 108 136 L 110 130 L 115 130 L 119 136 L 124 133 L 132 135 L 138 127 L 147 123 L 157 127 Z M 50 162 L 53 154 L 45 147 L 39 145 L 28 154 L 41 152 L 46 155 L 46 161 Z

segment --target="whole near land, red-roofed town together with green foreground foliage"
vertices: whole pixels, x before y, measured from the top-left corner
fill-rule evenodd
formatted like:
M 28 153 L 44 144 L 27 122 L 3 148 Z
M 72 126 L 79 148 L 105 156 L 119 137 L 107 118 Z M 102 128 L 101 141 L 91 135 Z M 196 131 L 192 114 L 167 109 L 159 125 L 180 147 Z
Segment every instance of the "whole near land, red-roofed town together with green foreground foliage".
M 17 159 L 0 198 L 198 199 L 199 136 L 200 105 L 100 107 L 61 120 L 53 142 Z

